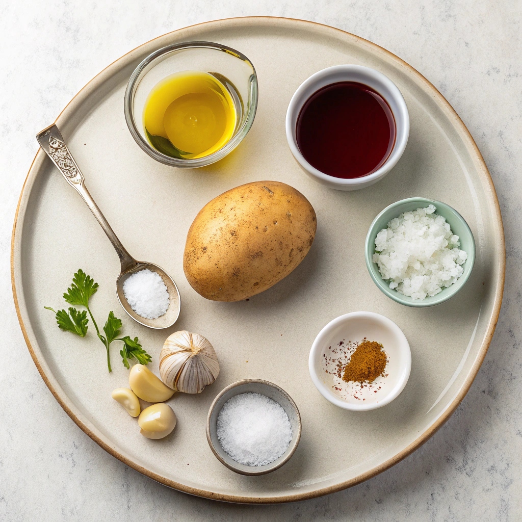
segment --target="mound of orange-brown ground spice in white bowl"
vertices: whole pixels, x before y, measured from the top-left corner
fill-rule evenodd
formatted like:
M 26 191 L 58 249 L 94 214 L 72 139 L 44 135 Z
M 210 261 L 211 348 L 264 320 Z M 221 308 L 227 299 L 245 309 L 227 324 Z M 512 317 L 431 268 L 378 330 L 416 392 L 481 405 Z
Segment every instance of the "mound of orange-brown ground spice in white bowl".
M 363 340 L 352 353 L 350 362 L 345 366 L 345 374 L 342 380 L 355 383 L 373 383 L 381 375 L 388 358 L 383 345 L 376 341 Z

